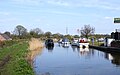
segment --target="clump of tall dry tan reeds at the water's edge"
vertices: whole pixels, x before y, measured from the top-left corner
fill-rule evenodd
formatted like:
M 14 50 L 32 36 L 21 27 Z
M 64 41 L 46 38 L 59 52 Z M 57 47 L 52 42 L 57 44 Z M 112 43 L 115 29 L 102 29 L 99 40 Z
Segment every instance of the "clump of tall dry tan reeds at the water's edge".
M 29 41 L 29 48 L 28 48 L 28 55 L 27 55 L 27 60 L 33 66 L 33 60 L 36 55 L 42 53 L 42 48 L 44 47 L 44 44 L 41 40 L 32 38 Z

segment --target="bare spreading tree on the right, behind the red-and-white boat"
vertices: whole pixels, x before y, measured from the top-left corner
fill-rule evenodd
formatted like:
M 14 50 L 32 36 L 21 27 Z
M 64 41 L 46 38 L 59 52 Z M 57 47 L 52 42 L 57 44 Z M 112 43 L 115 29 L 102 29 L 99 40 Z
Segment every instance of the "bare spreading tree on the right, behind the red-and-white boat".
M 95 28 L 91 27 L 90 25 L 84 25 L 84 27 L 81 28 L 80 32 L 82 37 L 88 38 L 89 35 L 94 34 Z

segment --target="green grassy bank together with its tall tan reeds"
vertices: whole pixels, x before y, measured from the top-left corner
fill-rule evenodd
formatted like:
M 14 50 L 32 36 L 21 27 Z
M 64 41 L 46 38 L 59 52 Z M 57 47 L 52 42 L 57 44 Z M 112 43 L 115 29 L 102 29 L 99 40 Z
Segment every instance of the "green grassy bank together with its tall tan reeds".
M 42 53 L 42 48 L 43 43 L 35 38 L 29 42 L 11 41 L 10 45 L 0 48 L 0 75 L 34 75 L 31 65 L 34 57 Z

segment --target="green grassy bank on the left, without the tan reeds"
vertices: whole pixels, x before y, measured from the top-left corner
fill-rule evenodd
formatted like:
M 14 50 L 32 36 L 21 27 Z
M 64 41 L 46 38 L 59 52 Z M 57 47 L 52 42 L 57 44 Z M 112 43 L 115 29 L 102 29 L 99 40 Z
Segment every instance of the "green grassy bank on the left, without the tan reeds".
M 25 59 L 28 53 L 27 42 L 17 42 L 0 49 L 0 75 L 34 75 Z

